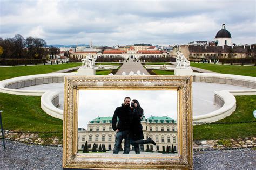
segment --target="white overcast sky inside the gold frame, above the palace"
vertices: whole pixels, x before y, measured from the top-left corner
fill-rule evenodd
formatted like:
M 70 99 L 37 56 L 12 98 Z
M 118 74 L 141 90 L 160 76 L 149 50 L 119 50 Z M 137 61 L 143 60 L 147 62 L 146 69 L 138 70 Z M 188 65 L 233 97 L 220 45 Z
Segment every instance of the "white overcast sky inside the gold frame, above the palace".
M 177 91 L 174 90 L 80 90 L 78 99 L 78 127 L 87 129 L 89 121 L 97 117 L 113 116 L 124 98 L 137 99 L 144 116 L 169 116 L 177 120 Z

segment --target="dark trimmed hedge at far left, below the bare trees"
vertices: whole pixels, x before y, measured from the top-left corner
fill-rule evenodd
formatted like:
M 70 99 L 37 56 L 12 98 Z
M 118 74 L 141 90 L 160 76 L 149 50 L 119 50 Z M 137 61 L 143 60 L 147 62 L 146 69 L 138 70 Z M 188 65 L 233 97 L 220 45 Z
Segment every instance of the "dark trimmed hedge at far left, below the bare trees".
M 0 59 L 0 65 L 37 65 L 46 63 L 46 59 Z

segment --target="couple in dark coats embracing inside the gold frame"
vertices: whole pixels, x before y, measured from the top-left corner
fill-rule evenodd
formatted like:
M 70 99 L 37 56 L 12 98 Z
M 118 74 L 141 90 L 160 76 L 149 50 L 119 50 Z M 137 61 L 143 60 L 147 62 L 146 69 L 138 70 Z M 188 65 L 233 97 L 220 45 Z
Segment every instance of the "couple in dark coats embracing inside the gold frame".
M 130 106 L 131 102 L 131 106 Z M 135 153 L 139 154 L 139 144 L 156 143 L 151 139 L 144 139 L 142 130 L 143 109 L 136 99 L 131 101 L 130 97 L 124 98 L 124 103 L 117 107 L 112 118 L 112 128 L 116 131 L 114 154 L 118 154 L 122 140 L 124 139 L 124 154 L 129 154 L 130 144 L 133 145 Z M 118 118 L 118 124 L 117 124 Z

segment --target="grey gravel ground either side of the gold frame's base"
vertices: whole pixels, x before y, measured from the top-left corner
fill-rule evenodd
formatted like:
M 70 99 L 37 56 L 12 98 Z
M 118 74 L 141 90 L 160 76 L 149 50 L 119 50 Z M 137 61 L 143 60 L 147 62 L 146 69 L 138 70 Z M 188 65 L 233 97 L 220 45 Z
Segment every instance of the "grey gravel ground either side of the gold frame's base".
M 62 169 L 62 148 L 0 140 L 0 169 Z M 256 150 L 196 151 L 194 169 L 255 169 Z

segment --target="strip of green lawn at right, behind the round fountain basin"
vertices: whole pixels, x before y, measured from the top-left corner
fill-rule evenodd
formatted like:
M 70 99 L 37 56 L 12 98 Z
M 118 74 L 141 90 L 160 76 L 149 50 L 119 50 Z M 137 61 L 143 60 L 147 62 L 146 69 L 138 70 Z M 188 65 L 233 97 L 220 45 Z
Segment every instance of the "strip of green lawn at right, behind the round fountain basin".
M 235 74 L 256 77 L 255 66 L 234 66 L 234 65 L 214 65 L 208 63 L 190 63 L 192 67 L 198 67 L 201 69 L 210 70 L 217 73 L 223 74 Z

